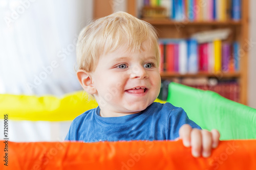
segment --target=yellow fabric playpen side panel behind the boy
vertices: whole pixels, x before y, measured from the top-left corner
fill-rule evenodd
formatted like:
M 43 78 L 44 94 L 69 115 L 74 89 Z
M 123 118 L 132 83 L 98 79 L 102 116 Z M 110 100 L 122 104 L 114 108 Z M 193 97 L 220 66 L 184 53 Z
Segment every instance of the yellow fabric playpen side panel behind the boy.
M 159 99 L 156 102 L 164 103 Z M 30 96 L 0 94 L 0 119 L 8 114 L 11 120 L 45 120 L 65 121 L 73 120 L 83 112 L 96 108 L 95 100 L 88 100 L 88 94 L 78 91 L 66 94 L 63 98 L 53 95 Z

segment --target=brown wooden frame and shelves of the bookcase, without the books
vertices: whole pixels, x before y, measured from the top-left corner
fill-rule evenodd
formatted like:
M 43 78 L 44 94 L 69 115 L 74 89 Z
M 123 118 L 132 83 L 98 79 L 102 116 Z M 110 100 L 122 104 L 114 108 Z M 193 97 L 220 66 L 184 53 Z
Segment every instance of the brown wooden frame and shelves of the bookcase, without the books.
M 137 16 L 137 1 L 127 1 L 127 12 Z M 162 72 L 161 77 L 164 78 L 217 78 L 217 79 L 235 79 L 239 81 L 239 102 L 247 104 L 247 79 L 248 79 L 248 51 L 250 50 L 248 43 L 249 32 L 249 0 L 241 0 L 241 20 L 233 21 L 174 21 L 167 18 L 143 18 L 143 20 L 151 23 L 158 31 L 159 38 L 188 38 L 190 35 L 215 29 L 228 28 L 231 30 L 227 41 L 238 41 L 240 43 L 240 70 L 239 72 L 219 72 L 218 74 L 198 72 L 197 74 L 178 74 L 175 72 Z

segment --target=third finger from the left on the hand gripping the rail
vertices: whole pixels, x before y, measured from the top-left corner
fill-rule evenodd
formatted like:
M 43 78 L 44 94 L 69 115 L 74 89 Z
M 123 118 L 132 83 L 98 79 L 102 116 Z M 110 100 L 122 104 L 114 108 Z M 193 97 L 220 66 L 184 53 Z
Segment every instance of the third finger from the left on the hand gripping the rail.
M 211 154 L 212 136 L 211 136 L 211 132 L 207 130 L 201 130 L 201 134 L 202 134 L 202 142 L 203 142 L 202 155 L 203 157 L 207 158 Z

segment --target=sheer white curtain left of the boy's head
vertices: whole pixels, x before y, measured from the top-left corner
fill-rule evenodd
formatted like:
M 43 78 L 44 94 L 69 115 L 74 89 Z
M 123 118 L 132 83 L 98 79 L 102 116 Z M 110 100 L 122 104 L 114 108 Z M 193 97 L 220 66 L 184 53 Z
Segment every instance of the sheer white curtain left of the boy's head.
M 0 0 L 0 93 L 80 90 L 75 45 L 92 7 L 93 0 Z

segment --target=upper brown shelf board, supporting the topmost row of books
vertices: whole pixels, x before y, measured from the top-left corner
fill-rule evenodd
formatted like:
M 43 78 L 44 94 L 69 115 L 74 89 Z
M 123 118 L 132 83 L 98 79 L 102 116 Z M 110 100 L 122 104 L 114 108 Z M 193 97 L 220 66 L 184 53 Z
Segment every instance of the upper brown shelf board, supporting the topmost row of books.
M 187 26 L 241 26 L 241 21 L 174 21 L 165 18 L 143 18 L 144 21 L 151 23 L 152 25 L 161 25 L 161 26 L 175 26 L 175 25 L 187 25 Z

